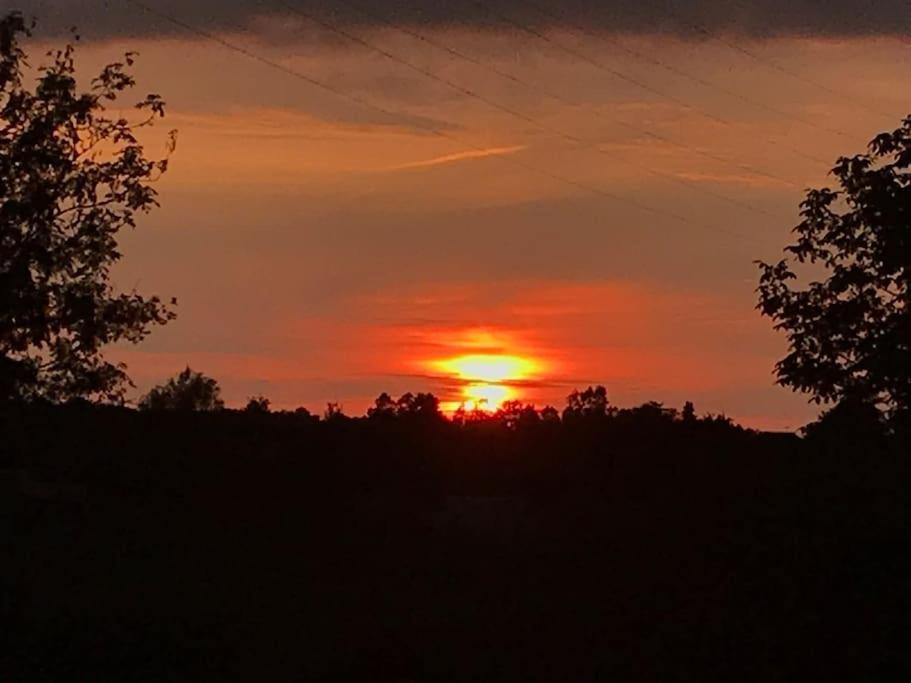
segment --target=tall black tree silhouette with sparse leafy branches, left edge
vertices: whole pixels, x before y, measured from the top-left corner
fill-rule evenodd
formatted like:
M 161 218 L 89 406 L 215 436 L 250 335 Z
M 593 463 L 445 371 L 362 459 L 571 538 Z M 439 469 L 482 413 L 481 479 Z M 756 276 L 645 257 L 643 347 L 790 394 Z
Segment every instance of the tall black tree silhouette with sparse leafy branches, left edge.
M 32 84 L 29 35 L 21 14 L 0 19 L 0 400 L 119 402 L 126 368 L 102 348 L 174 318 L 157 297 L 111 285 L 119 233 L 157 206 L 151 183 L 167 160 L 147 158 L 137 134 L 164 103 L 149 95 L 137 120 L 109 117 L 134 86 L 133 55 L 80 92 L 72 45 L 49 53 Z

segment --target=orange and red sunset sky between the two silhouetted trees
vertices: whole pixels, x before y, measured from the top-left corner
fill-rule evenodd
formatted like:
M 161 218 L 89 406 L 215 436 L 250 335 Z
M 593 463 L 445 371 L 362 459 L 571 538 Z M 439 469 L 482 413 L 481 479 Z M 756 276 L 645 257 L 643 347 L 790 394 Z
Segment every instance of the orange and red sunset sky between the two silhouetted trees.
M 141 4 L 22 6 L 33 63 L 69 25 L 86 75 L 135 50 L 137 99 L 169 104 L 150 151 L 179 131 L 116 274 L 180 302 L 113 354 L 137 394 L 189 364 L 229 405 L 357 414 L 461 401 L 478 378 L 453 359 L 507 356 L 481 379 L 539 406 L 600 383 L 757 427 L 815 415 L 774 385 L 752 262 L 909 112 L 911 4 Z

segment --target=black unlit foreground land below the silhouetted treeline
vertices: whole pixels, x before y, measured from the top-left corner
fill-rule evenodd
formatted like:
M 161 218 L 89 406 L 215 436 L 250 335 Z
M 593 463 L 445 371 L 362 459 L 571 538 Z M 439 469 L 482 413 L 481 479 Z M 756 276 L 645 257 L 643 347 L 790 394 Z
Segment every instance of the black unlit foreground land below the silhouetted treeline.
M 862 429 L 0 428 L 3 681 L 911 676 L 911 468 Z

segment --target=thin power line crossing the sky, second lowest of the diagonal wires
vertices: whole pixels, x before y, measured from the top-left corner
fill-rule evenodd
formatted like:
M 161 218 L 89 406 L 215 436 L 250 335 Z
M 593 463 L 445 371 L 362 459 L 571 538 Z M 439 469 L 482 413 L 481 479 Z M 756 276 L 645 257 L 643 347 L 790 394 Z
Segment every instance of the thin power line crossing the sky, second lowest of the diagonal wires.
M 405 67 L 411 69 L 412 71 L 415 71 L 416 73 L 418 73 L 422 76 L 425 76 L 433 81 L 442 83 L 443 85 L 447 86 L 448 88 L 451 88 L 452 90 L 454 90 L 457 93 L 460 93 L 460 94 L 465 95 L 466 97 L 469 97 L 472 99 L 476 99 L 476 100 L 492 107 L 493 109 L 496 109 L 497 111 L 500 111 L 500 112 L 503 112 L 510 116 L 513 116 L 513 117 L 519 119 L 520 121 L 523 121 L 525 123 L 531 124 L 532 126 L 535 126 L 539 130 L 542 130 L 542 131 L 549 133 L 551 135 L 554 135 L 556 137 L 562 138 L 563 140 L 566 140 L 567 142 L 569 142 L 572 145 L 575 145 L 577 147 L 581 147 L 584 149 L 591 149 L 599 154 L 607 154 L 607 152 L 605 150 L 601 149 L 597 145 L 594 145 L 586 140 L 583 140 L 582 138 L 579 138 L 572 133 L 567 133 L 566 131 L 563 131 L 559 128 L 555 128 L 553 126 L 549 126 L 547 124 L 541 123 L 537 119 L 535 119 L 531 116 L 528 116 L 527 114 L 524 114 L 523 112 L 513 109 L 512 107 L 502 105 L 499 102 L 496 102 L 495 100 L 491 100 L 490 98 L 485 97 L 484 95 L 481 95 L 481 94 L 475 92 L 474 90 L 471 90 L 470 88 L 461 86 L 458 83 L 455 83 L 454 81 L 449 80 L 448 78 L 445 78 L 443 76 L 440 76 L 440 75 L 434 73 L 433 71 L 430 71 L 429 69 L 425 69 L 421 66 L 418 66 L 414 62 L 412 62 L 408 59 L 405 59 L 404 57 L 400 57 L 399 55 L 397 55 L 395 53 L 389 52 L 388 50 L 376 45 L 375 43 L 365 40 L 364 38 L 357 36 L 357 35 L 351 33 L 350 31 L 346 31 L 345 29 L 339 27 L 336 24 L 333 24 L 332 22 L 321 19 L 321 18 L 313 15 L 310 12 L 306 12 L 306 11 L 296 7 L 295 5 L 285 2 L 284 0 L 279 0 L 279 2 L 284 7 L 288 8 L 290 11 L 292 11 L 296 14 L 299 14 L 300 16 L 326 28 L 329 31 L 332 31 L 336 35 L 340 35 L 344 38 L 347 38 L 347 39 L 357 43 L 358 45 L 361 45 L 363 47 L 366 47 L 367 49 L 377 52 L 378 54 L 383 55 L 387 59 L 390 59 L 397 64 L 401 64 L 402 66 L 405 66 Z M 343 3 L 343 4 L 347 5 L 347 3 Z M 348 5 L 348 6 L 352 7 L 352 5 Z M 357 10 L 356 7 L 354 9 Z M 365 12 L 364 14 L 366 15 L 367 13 Z M 721 201 L 727 202 L 729 204 L 733 204 L 734 206 L 738 206 L 738 207 L 740 207 L 742 209 L 746 209 L 748 211 L 753 211 L 755 213 L 762 214 L 769 218 L 777 218 L 774 214 L 769 213 L 765 209 L 755 207 L 752 204 L 749 204 L 748 202 L 743 202 L 743 201 L 740 201 L 739 199 L 735 199 L 733 197 L 728 197 L 725 194 L 722 194 L 720 192 L 715 192 L 706 187 L 703 187 L 702 185 L 698 185 L 696 183 L 689 182 L 683 178 L 679 178 L 670 173 L 664 173 L 663 171 L 655 170 L 644 164 L 640 164 L 635 161 L 630 161 L 628 159 L 616 159 L 615 158 L 615 160 L 620 161 L 621 163 L 625 163 L 629 166 L 634 166 L 636 168 L 642 169 L 647 173 L 651 173 L 652 175 L 655 175 L 655 176 L 658 176 L 661 178 L 665 178 L 665 179 L 669 180 L 670 182 L 673 182 L 673 183 L 676 183 L 683 187 L 686 187 L 694 192 L 699 192 L 699 193 L 707 195 L 709 197 L 713 197 L 715 199 L 720 199 Z

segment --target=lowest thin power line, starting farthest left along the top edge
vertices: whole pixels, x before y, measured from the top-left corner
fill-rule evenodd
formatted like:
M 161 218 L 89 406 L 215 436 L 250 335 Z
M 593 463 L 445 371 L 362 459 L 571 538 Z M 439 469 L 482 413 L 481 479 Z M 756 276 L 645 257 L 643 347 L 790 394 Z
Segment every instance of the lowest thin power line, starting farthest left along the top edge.
M 164 21 L 167 21 L 167 22 L 169 22 L 169 23 L 171 23 L 171 24 L 173 24 L 173 25 L 175 25 L 175 26 L 178 26 L 178 27 L 180 27 L 180 28 L 182 28 L 182 29 L 184 29 L 184 30 L 186 30 L 186 31 L 188 31 L 188 32 L 191 32 L 191 33 L 193 33 L 193 34 L 195 34 L 195 35 L 197 35 L 197 36 L 200 36 L 200 37 L 202 37 L 202 38 L 205 38 L 205 39 L 207 39 L 207 40 L 210 40 L 210 41 L 212 41 L 212 42 L 215 42 L 215 43 L 221 45 L 222 47 L 224 47 L 225 49 L 228 49 L 228 50 L 230 50 L 230 51 L 232 51 L 232 52 L 235 52 L 235 53 L 237 53 L 237 54 L 240 54 L 240 55 L 242 55 L 242 56 L 244 56 L 244 57 L 246 57 L 246 58 L 248 58 L 248 59 L 251 59 L 251 60 L 254 60 L 254 61 L 256 61 L 256 62 L 259 62 L 260 64 L 262 64 L 262 65 L 264 65 L 264 66 L 267 66 L 267 67 L 269 67 L 269 68 L 272 68 L 272 69 L 276 69 L 276 70 L 278 70 L 278 71 L 281 71 L 282 73 L 284 73 L 284 74 L 287 75 L 287 76 L 291 76 L 291 77 L 296 78 L 296 79 L 298 79 L 298 80 L 304 81 L 305 83 L 307 83 L 307 84 L 309 84 L 309 85 L 311 85 L 311 86 L 313 86 L 313 87 L 316 87 L 316 88 L 318 88 L 318 89 L 321 89 L 321 90 L 323 90 L 323 91 L 325 91 L 325 92 L 329 92 L 329 93 L 331 93 L 331 94 L 333 94 L 333 95 L 335 95 L 335 96 L 337 96 L 337 97 L 340 97 L 340 98 L 342 98 L 342 99 L 346 99 L 346 100 L 348 100 L 348 101 L 350 101 L 350 102 L 354 102 L 354 103 L 358 104 L 359 106 L 362 106 L 362 107 L 365 107 L 365 108 L 368 108 L 368 109 L 372 109 L 372 110 L 377 111 L 377 112 L 379 112 L 379 113 L 381 113 L 381 114 L 383 114 L 384 116 L 387 116 L 387 117 L 397 118 L 397 117 L 400 117 L 400 116 L 401 116 L 401 114 L 398 113 L 398 112 L 394 112 L 394 111 L 388 110 L 388 109 L 386 109 L 386 108 L 384 108 L 384 107 L 382 107 L 382 106 L 380 106 L 380 105 L 374 104 L 374 103 L 370 102 L 369 100 L 366 100 L 366 99 L 364 99 L 364 98 L 362 98 L 362 97 L 359 97 L 359 96 L 357 96 L 357 95 L 352 95 L 351 93 L 348 93 L 348 92 L 346 92 L 346 91 L 344 91 L 344 90 L 335 88 L 335 87 L 333 87 L 333 86 L 331 86 L 331 85 L 329 85 L 329 84 L 327 84 L 327 83 L 325 83 L 325 82 L 323 82 L 323 81 L 321 81 L 321 80 L 319 80 L 319 79 L 313 78 L 313 77 L 308 76 L 308 75 L 306 75 L 306 74 L 304 74 L 304 73 L 302 73 L 302 72 L 300 72 L 300 71 L 297 71 L 296 69 L 292 69 L 292 68 L 290 68 L 290 67 L 284 66 L 283 64 L 280 64 L 279 62 L 276 62 L 276 61 L 274 61 L 274 60 L 271 60 L 271 59 L 269 59 L 269 58 L 267 58 L 267 57 L 263 57 L 263 56 L 261 56 L 261 55 L 258 55 L 258 54 L 256 54 L 255 52 L 253 52 L 252 50 L 248 50 L 247 48 L 244 48 L 243 46 L 237 45 L 236 43 L 233 43 L 233 42 L 231 42 L 231 41 L 229 41 L 229 40 L 226 40 L 225 38 L 222 38 L 222 37 L 217 36 L 217 35 L 215 35 L 215 34 L 213 34 L 213 33 L 210 33 L 210 32 L 208 32 L 208 31 L 206 31 L 205 29 L 201 29 L 201 28 L 199 28 L 199 27 L 197 27 L 197 26 L 194 26 L 194 25 L 192 25 L 192 24 L 189 24 L 189 23 L 187 23 L 187 22 L 185 22 L 185 21 L 183 21 L 183 20 L 181 20 L 181 19 L 179 19 L 179 18 L 177 18 L 177 17 L 174 17 L 173 15 L 170 15 L 170 14 L 167 14 L 167 13 L 162 12 L 162 11 L 160 11 L 160 10 L 157 10 L 157 9 L 155 9 L 155 8 L 153 8 L 153 7 L 149 6 L 149 5 L 147 5 L 145 2 L 142 2 L 141 0 L 127 0 L 127 2 L 129 2 L 130 4 L 132 4 L 132 5 L 136 6 L 136 7 L 138 7 L 139 9 L 141 9 L 141 10 L 143 10 L 143 11 L 145 11 L 145 12 L 147 12 L 147 13 L 153 15 L 153 16 L 158 17 L 159 19 L 162 19 L 162 20 L 164 20 Z M 514 166 L 518 166 L 518 167 L 520 167 L 520 168 L 523 168 L 523 169 L 525 169 L 525 170 L 527 170 L 527 171 L 530 171 L 530 172 L 532 172 L 532 173 L 535 173 L 535 174 L 537 174 L 537 175 L 541 175 L 541 176 L 543 176 L 543 177 L 550 178 L 551 180 L 556 180 L 556 181 L 561 182 L 561 183 L 563 183 L 563 184 L 566 184 L 566 185 L 569 185 L 569 186 L 574 187 L 574 188 L 576 188 L 576 189 L 582 190 L 582 191 L 584 191 L 584 192 L 586 192 L 586 193 L 591 193 L 591 194 L 600 195 L 600 196 L 605 197 L 605 198 L 607 198 L 607 199 L 611 199 L 612 201 L 615 201 L 615 202 L 618 202 L 618 203 L 621 203 L 621 204 L 627 204 L 627 205 L 632 206 L 632 207 L 634 207 L 634 208 L 636 208 L 636 209 L 638 209 L 638 210 L 640 210 L 640 211 L 645 211 L 645 212 L 652 213 L 652 214 L 656 214 L 656 215 L 659 215 L 659 216 L 664 216 L 664 217 L 667 217 L 667 218 L 672 218 L 673 220 L 678 221 L 678 222 L 680 222 L 680 223 L 684 223 L 684 224 L 686 224 L 686 225 L 690 225 L 690 226 L 693 226 L 693 227 L 697 227 L 697 228 L 701 228 L 701 229 L 709 230 L 709 231 L 713 231 L 713 232 L 721 232 L 721 233 L 727 234 L 727 235 L 729 235 L 729 236 L 736 237 L 736 238 L 738 238 L 738 239 L 744 239 L 744 238 L 745 238 L 745 239 L 748 239 L 748 240 L 750 240 L 750 241 L 755 242 L 755 240 L 754 240 L 753 238 L 751 238 L 750 235 L 744 235 L 744 234 L 741 234 L 741 233 L 736 233 L 736 232 L 733 232 L 733 231 L 731 231 L 731 230 L 728 230 L 728 229 L 726 229 L 726 228 L 723 228 L 723 227 L 717 226 L 717 225 L 711 225 L 711 224 L 707 224 L 707 223 L 696 223 L 696 222 L 691 221 L 691 220 L 688 219 L 687 217 L 685 217 L 685 216 L 683 216 L 683 215 L 681 215 L 681 214 L 678 214 L 678 213 L 676 213 L 676 212 L 674 212 L 674 211 L 669 211 L 669 210 L 667 210 L 667 209 L 656 208 L 656 207 L 650 206 L 650 205 L 648 205 L 648 204 L 643 204 L 642 202 L 636 201 L 635 199 L 631 199 L 631 198 L 629 198 L 629 197 L 624 197 L 624 196 L 622 196 L 622 195 L 615 194 L 615 193 L 610 192 L 610 191 L 608 191 L 608 190 L 604 190 L 604 189 L 599 188 L 599 187 L 594 187 L 594 186 L 592 186 L 592 185 L 588 185 L 587 183 L 583 183 L 583 182 L 580 182 L 580 181 L 577 181 L 577 180 L 573 180 L 573 179 L 571 179 L 571 178 L 567 178 L 566 176 L 563 176 L 563 175 L 560 175 L 560 174 L 553 173 L 553 172 L 551 172 L 551 171 L 547 171 L 547 170 L 541 169 L 541 168 L 539 168 L 539 167 L 537 167 L 537 166 L 534 166 L 534 165 L 532 165 L 532 164 L 527 164 L 527 163 L 525 163 L 525 162 L 523 162 L 523 161 L 521 161 L 521 160 L 519 160 L 519 159 L 516 159 L 516 158 L 514 158 L 514 157 L 506 156 L 506 155 L 504 155 L 504 154 L 500 154 L 500 153 L 496 153 L 496 152 L 491 153 L 490 150 L 484 149 L 484 148 L 479 147 L 479 146 L 477 146 L 477 145 L 474 145 L 474 144 L 472 144 L 472 143 L 470 143 L 470 142 L 466 142 L 466 141 L 464 141 L 464 140 L 461 140 L 460 138 L 457 138 L 456 136 L 451 135 L 451 134 L 447 133 L 445 130 L 441 130 L 440 128 L 429 128 L 429 127 L 428 127 L 428 128 L 424 128 L 424 129 L 422 129 L 422 130 L 425 130 L 426 132 L 428 132 L 428 133 L 430 133 L 430 134 L 432 134 L 432 135 L 435 135 L 435 136 L 437 136 L 437 137 L 440 137 L 440 138 L 449 140 L 449 141 L 451 141 L 451 142 L 455 142 L 455 143 L 458 144 L 460 147 L 469 147 L 469 148 L 473 149 L 474 151 L 483 152 L 483 153 L 485 153 L 485 154 L 487 154 L 487 155 L 489 155 L 489 156 L 498 158 L 498 159 L 500 159 L 501 161 L 504 161 L 504 162 L 506 162 L 506 163 L 512 164 L 512 165 L 514 165 Z

